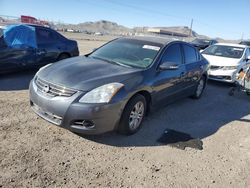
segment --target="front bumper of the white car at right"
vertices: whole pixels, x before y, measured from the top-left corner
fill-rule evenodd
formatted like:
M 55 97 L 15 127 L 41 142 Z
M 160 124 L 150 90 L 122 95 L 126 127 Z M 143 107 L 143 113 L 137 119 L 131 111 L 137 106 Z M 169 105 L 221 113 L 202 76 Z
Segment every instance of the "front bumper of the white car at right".
M 227 82 L 227 83 L 234 83 L 234 73 L 235 70 L 211 70 L 208 71 L 208 79 L 210 80 L 216 80 L 221 82 Z

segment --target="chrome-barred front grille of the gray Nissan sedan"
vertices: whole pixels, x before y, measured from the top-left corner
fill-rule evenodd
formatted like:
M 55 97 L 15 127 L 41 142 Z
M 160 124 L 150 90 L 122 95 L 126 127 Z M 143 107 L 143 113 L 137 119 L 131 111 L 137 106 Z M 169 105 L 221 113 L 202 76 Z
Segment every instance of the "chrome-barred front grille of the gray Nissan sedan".
M 38 77 L 35 79 L 35 83 L 36 83 L 37 89 L 40 92 L 51 97 L 56 97 L 56 96 L 71 97 L 77 92 L 77 90 L 55 85 L 45 80 L 42 80 Z

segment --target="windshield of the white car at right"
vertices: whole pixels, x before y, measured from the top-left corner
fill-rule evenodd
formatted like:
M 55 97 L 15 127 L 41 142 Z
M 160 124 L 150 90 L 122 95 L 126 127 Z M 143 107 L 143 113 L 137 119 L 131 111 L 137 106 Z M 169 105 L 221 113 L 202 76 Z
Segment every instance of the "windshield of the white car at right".
M 235 47 L 235 46 L 222 46 L 214 45 L 208 47 L 202 52 L 202 54 L 228 57 L 228 58 L 241 58 L 244 52 L 244 48 Z

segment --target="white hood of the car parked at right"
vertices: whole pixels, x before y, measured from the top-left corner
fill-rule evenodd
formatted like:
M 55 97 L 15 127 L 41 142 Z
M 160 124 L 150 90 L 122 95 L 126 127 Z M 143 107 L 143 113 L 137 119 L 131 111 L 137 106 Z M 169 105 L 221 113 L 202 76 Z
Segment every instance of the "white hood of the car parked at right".
M 238 66 L 240 59 L 220 57 L 214 55 L 202 54 L 203 57 L 213 66 Z

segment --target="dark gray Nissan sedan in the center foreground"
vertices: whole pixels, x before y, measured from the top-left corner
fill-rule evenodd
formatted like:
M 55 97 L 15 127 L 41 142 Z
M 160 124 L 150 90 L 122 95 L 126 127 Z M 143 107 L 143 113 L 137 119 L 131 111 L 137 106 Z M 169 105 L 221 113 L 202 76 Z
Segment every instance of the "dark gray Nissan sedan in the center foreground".
M 113 40 L 94 52 L 41 68 L 32 109 L 73 132 L 133 134 L 149 109 L 200 98 L 208 62 L 190 44 L 158 37 Z

